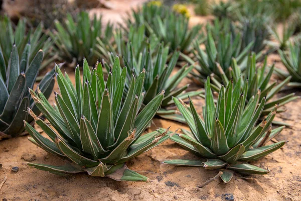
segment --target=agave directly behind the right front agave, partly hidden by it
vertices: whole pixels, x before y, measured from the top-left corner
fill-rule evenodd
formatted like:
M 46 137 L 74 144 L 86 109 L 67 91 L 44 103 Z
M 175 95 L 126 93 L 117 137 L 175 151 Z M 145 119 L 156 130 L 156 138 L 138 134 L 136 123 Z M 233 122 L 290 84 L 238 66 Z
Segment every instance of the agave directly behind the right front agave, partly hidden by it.
M 245 94 L 248 101 L 251 100 L 258 91 L 260 91 L 260 99 L 265 97 L 266 102 L 262 115 L 270 113 L 276 104 L 280 107 L 298 98 L 298 96 L 295 96 L 295 93 L 290 93 L 280 98 L 274 98 L 274 96 L 287 85 L 291 76 L 288 76 L 280 83 L 276 80 L 271 81 L 271 76 L 274 72 L 274 64 L 272 66 L 267 66 L 267 57 L 265 57 L 263 65 L 259 67 L 256 64 L 256 55 L 253 53 L 249 56 L 247 67 L 244 72 L 242 72 L 240 67 L 237 65 L 236 59 L 232 59 L 232 65 L 231 68 L 229 68 L 229 71 L 232 77 L 231 80 L 229 80 L 226 76 L 222 77 L 222 82 L 225 86 L 227 86 L 230 82 L 233 82 L 234 85 L 238 84 L 244 86 L 248 82 L 247 93 Z M 222 87 L 220 82 L 218 82 L 214 77 L 211 77 L 211 81 L 217 88 Z M 277 112 L 284 111 L 277 110 Z

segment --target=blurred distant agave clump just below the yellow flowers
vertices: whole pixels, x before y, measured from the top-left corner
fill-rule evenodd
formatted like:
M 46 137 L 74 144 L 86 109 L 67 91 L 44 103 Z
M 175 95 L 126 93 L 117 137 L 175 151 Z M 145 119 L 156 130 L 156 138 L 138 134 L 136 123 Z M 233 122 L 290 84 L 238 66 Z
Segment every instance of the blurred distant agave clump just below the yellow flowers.
M 156 15 L 158 12 L 159 16 Z M 188 54 L 192 41 L 201 36 L 201 25 L 189 29 L 189 18 L 164 6 L 145 4 L 141 10 L 133 11 L 132 16 L 134 20 L 127 20 L 128 27 L 144 25 L 146 36 L 155 33 L 161 42 L 170 45 L 170 52 L 179 48 L 181 52 Z

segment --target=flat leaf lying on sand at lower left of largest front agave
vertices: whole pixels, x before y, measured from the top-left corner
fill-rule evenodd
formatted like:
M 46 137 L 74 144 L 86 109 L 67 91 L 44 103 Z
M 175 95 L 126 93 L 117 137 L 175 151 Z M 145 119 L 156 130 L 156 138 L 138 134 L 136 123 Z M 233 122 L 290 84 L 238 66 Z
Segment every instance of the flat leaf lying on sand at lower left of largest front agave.
M 60 176 L 68 176 L 70 174 L 85 172 L 85 170 L 83 170 L 80 166 L 75 166 L 71 164 L 64 165 L 64 166 L 54 166 L 54 165 L 27 163 L 27 165 Z

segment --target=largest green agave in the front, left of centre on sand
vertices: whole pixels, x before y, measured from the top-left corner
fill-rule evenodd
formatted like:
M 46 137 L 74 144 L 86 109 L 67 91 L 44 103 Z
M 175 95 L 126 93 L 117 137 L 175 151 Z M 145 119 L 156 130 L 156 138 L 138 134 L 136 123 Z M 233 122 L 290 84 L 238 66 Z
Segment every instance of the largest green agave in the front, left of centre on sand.
M 168 131 L 162 129 L 141 136 L 160 108 L 164 91 L 139 112 L 145 71 L 131 77 L 125 92 L 126 67 L 121 70 L 118 57 L 106 82 L 101 63 L 90 71 L 85 59 L 84 81 L 81 82 L 77 66 L 75 87 L 58 66 L 55 70 L 61 95 L 55 93 L 54 108 L 39 90 L 37 93 L 30 90 L 30 93 L 56 131 L 31 110 L 29 113 L 50 139 L 43 137 L 27 122 L 25 127 L 31 135 L 31 142 L 74 163 L 64 166 L 29 165 L 59 175 L 87 172 L 92 176 L 107 176 L 115 180 L 147 181 L 147 177 L 129 170 L 125 162 L 169 138 Z

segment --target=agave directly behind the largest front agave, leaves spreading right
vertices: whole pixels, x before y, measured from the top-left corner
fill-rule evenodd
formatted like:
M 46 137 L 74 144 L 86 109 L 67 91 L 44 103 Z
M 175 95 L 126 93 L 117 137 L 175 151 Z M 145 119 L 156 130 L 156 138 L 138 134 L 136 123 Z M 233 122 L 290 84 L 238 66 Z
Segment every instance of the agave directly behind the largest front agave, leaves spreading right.
M 106 55 L 103 58 L 109 61 L 111 65 L 113 65 L 113 58 L 116 55 L 122 55 L 123 63 L 127 66 L 128 78 L 133 73 L 138 76 L 139 73 L 145 70 L 143 105 L 148 104 L 160 91 L 165 90 L 165 97 L 157 115 L 162 118 L 184 122 L 180 115 L 175 114 L 177 111 L 168 108 L 174 105 L 173 96 L 186 99 L 188 95 L 196 96 L 203 92 L 201 90 L 184 92 L 188 88 L 188 84 L 178 87 L 180 82 L 191 72 L 193 66 L 186 65 L 172 76 L 171 74 L 179 58 L 179 50 L 174 51 L 170 57 L 169 46 L 160 44 L 155 35 L 146 38 L 144 29 L 144 26 L 138 29 L 131 27 L 126 34 L 119 30 L 114 33 L 113 44 L 107 40 L 98 40 L 99 52 L 101 55 Z M 124 38 L 127 40 L 124 40 Z M 105 67 L 107 71 L 110 70 L 108 64 L 105 64 Z

